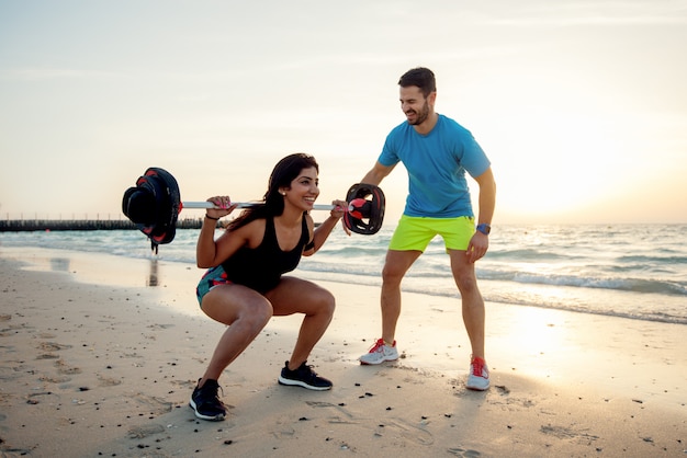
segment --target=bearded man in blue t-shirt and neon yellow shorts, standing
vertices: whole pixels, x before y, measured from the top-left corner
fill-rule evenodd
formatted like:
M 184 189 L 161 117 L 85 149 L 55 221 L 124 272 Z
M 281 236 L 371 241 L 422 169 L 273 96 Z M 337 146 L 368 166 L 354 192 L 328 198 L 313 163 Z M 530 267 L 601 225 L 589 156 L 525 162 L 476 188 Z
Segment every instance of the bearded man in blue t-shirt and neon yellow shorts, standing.
M 398 358 L 394 336 L 401 314 L 401 282 L 431 239 L 440 234 L 461 294 L 463 322 L 472 346 L 466 387 L 486 390 L 489 370 L 484 356 L 485 310 L 475 262 L 489 245 L 496 201 L 491 162 L 469 130 L 435 112 L 437 85 L 431 70 L 412 69 L 401 77 L 398 85 L 406 122 L 388 134 L 362 183 L 379 185 L 403 162 L 408 171 L 408 196 L 382 271 L 382 337 L 360 357 L 360 363 Z M 465 172 L 480 186 L 476 230 Z

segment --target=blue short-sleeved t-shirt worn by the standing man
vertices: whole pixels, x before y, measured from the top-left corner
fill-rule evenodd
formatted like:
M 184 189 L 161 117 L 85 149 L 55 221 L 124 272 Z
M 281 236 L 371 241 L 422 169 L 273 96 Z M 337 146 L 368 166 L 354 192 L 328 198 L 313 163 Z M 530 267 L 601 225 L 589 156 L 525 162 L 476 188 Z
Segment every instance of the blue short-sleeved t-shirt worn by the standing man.
M 407 122 L 396 126 L 378 160 L 386 167 L 401 161 L 408 171 L 404 214 L 432 218 L 473 217 L 465 171 L 480 176 L 491 165 L 470 130 L 443 115 L 427 135 Z

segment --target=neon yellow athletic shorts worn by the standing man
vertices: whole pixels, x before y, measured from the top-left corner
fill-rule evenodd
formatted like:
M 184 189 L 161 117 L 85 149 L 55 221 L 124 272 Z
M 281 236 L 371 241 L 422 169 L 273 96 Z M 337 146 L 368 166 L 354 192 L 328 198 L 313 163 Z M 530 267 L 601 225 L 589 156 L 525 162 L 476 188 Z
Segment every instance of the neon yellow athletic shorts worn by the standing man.
M 465 251 L 474 233 L 475 219 L 470 216 L 426 218 L 402 215 L 388 249 L 425 252 L 431 239 L 441 236 L 447 250 Z

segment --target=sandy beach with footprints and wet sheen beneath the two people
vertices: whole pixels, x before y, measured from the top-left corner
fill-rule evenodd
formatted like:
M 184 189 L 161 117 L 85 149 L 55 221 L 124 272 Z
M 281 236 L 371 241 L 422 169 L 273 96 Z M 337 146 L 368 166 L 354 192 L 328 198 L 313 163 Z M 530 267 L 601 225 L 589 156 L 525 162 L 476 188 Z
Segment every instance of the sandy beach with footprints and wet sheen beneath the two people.
M 224 373 L 223 422 L 189 397 L 224 331 L 194 265 L 0 247 L 0 456 L 686 456 L 685 325 L 487 304 L 492 388 L 465 389 L 457 297 L 404 294 L 402 357 L 360 366 L 379 288 L 337 298 L 308 359 L 331 391 L 283 387 L 301 317 Z

